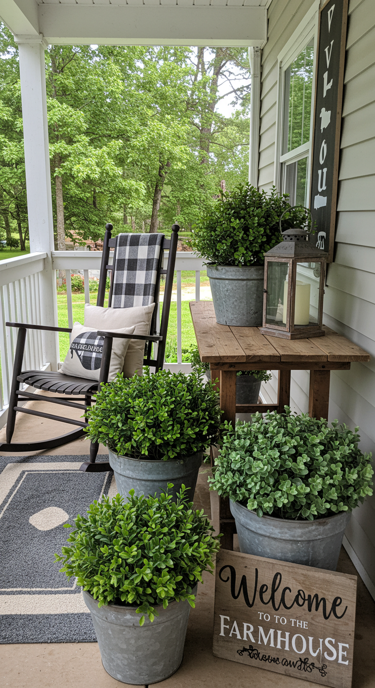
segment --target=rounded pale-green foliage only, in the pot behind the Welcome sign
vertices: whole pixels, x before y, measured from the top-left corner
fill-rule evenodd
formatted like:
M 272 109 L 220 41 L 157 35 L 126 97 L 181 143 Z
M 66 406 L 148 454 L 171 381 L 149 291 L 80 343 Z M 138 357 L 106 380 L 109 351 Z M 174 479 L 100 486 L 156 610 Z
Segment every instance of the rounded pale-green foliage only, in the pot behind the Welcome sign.
M 255 413 L 253 423 L 225 424 L 211 488 L 260 517 L 313 519 L 351 511 L 372 495 L 371 454 L 335 420 L 307 414 Z

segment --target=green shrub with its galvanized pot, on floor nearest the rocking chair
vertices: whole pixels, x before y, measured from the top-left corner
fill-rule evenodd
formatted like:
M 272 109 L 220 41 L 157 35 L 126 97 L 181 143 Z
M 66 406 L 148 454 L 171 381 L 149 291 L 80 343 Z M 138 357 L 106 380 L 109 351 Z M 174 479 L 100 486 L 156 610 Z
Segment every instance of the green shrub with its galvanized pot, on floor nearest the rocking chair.
M 195 373 L 160 370 L 103 385 L 87 409 L 87 432 L 107 444 L 120 495 L 160 495 L 173 482 L 173 499 L 182 484 L 193 499 L 202 453 L 217 442 L 217 393 Z

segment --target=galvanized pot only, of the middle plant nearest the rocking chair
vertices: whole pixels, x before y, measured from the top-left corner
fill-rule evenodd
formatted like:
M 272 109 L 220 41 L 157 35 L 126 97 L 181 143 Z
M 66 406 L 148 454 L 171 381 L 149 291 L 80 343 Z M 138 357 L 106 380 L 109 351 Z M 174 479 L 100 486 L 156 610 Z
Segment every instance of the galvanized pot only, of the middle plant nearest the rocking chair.
M 155 495 L 159 497 L 167 490 L 168 483 L 173 483 L 169 494 L 173 502 L 177 501 L 177 493 L 182 484 L 188 488 L 186 496 L 193 502 L 195 485 L 200 466 L 202 465 L 202 451 L 191 456 L 182 456 L 169 461 L 135 459 L 130 456 L 119 456 L 108 449 L 109 464 L 114 470 L 118 493 L 129 499 L 129 490 L 136 495 Z

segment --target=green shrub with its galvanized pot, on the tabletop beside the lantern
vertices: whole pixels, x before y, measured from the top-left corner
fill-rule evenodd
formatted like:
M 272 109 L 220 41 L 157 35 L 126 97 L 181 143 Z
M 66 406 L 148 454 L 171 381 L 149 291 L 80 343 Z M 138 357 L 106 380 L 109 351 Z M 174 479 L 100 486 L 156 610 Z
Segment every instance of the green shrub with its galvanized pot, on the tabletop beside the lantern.
M 304 208 L 291 208 L 288 195 L 275 187 L 267 195 L 239 184 L 221 192 L 205 208 L 195 227 L 191 248 L 208 260 L 216 320 L 222 325 L 258 327 L 262 323 L 264 252 L 281 241 L 282 229 L 306 226 Z

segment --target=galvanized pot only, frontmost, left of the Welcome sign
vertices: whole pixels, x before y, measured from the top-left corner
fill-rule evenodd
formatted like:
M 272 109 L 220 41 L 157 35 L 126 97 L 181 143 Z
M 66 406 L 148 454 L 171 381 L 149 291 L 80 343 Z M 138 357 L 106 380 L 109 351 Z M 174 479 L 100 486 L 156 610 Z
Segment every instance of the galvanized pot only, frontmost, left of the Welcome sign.
M 196 594 L 197 586 L 193 590 Z M 139 625 L 138 605 L 109 604 L 98 608 L 89 592 L 83 592 L 91 612 L 105 671 L 132 685 L 149 685 L 168 678 L 182 662 L 190 605 L 171 602 L 156 606 L 159 616 L 151 623 L 147 614 Z

